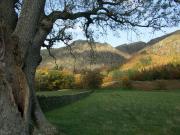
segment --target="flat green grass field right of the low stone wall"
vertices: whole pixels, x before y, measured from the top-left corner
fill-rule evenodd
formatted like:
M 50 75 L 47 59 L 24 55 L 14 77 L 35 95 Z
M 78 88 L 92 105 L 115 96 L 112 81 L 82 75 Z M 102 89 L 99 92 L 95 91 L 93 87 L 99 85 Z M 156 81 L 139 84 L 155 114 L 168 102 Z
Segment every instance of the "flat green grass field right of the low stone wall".
M 98 90 L 45 114 L 67 135 L 180 135 L 180 92 Z

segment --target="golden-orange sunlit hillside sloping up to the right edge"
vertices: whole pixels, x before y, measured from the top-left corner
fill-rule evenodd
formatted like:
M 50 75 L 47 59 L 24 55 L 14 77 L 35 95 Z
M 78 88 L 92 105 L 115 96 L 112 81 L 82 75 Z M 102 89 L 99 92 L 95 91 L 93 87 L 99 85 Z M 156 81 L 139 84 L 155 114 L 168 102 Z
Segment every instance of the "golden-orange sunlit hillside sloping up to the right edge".
M 140 70 L 169 63 L 180 63 L 180 31 L 151 40 L 120 69 Z

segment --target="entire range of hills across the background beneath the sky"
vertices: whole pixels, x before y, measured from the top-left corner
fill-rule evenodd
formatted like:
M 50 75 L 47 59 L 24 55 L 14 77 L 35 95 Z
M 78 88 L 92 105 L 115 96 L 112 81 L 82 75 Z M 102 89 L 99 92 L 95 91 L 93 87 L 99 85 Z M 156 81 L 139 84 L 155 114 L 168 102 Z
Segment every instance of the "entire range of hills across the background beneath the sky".
M 122 64 L 123 65 L 121 66 L 121 69 L 125 70 L 129 69 L 130 67 L 133 68 L 133 66 L 135 66 L 136 64 L 136 68 L 138 68 L 138 66 L 142 63 L 144 65 L 156 65 L 158 64 L 157 62 L 153 63 L 155 59 L 156 61 L 174 61 L 174 59 L 177 59 L 176 56 L 179 56 L 180 53 L 178 51 L 180 49 L 177 49 L 178 47 L 180 47 L 179 40 L 180 30 L 177 30 L 164 36 L 154 38 L 147 43 L 139 41 L 127 45 L 120 45 L 120 47 L 112 47 L 108 43 L 98 42 L 89 45 L 86 40 L 77 40 L 70 45 L 72 54 L 76 56 L 76 59 L 74 59 L 74 56 L 70 54 L 70 48 L 68 47 L 52 49 L 51 51 L 57 59 L 58 66 L 70 70 L 72 70 L 73 68 L 80 70 L 102 67 L 111 68 L 117 67 L 118 65 Z M 173 44 L 172 46 L 174 47 L 174 49 L 171 44 Z M 92 48 L 93 51 L 91 50 Z M 177 53 L 174 53 L 176 51 Z M 52 69 L 56 66 L 54 64 L 53 58 L 48 55 L 48 52 L 46 50 L 43 50 L 41 54 L 43 56 L 43 61 L 40 65 L 40 68 L 47 67 Z M 94 56 L 92 54 L 94 54 Z M 152 54 L 152 56 L 149 54 Z M 162 56 L 158 56 L 160 54 Z M 169 54 L 171 56 L 168 56 Z M 131 61 L 133 61 L 133 63 L 135 64 L 133 65 Z M 165 63 L 167 62 L 164 62 L 163 64 Z

